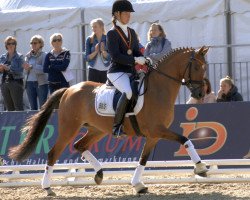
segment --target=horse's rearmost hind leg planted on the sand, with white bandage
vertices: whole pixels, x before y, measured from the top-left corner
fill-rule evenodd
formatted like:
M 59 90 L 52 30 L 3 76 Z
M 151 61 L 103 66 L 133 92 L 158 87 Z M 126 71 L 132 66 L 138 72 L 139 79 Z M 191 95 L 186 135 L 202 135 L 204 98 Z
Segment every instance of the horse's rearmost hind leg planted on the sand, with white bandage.
M 63 122 L 59 119 L 58 125 L 59 135 L 55 145 L 48 153 L 48 163 L 42 180 L 42 188 L 47 191 L 48 196 L 55 196 L 55 193 L 50 188 L 53 166 L 65 147 L 75 138 L 81 128 L 81 124 L 76 121 L 73 122 L 73 119 L 70 119 L 70 117 L 64 118 Z

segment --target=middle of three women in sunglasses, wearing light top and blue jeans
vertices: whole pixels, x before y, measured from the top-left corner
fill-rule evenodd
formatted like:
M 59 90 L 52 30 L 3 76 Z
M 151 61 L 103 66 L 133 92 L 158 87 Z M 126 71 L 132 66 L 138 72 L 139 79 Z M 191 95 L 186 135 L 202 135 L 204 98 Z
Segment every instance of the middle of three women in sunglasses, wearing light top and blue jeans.
M 31 51 L 25 57 L 24 69 L 26 72 L 25 89 L 27 91 L 31 110 L 38 110 L 48 95 L 48 76 L 43 72 L 46 53 L 42 51 L 44 40 L 35 35 L 30 40 Z

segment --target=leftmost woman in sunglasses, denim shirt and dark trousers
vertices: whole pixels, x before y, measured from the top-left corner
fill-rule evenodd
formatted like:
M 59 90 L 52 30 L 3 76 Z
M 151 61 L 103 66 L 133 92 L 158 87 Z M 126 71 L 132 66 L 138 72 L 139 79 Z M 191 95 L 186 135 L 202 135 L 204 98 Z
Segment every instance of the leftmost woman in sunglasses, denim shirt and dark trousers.
M 7 111 L 23 110 L 23 64 L 24 57 L 16 51 L 17 40 L 8 36 L 5 41 L 7 52 L 0 57 L 2 76 L 1 91 Z

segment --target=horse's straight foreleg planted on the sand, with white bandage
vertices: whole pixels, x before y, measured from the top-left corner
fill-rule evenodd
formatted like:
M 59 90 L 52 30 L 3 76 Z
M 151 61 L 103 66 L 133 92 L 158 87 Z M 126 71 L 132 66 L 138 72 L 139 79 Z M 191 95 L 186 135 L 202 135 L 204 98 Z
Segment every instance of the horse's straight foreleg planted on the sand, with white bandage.
M 158 139 L 147 138 L 146 143 L 144 144 L 139 165 L 136 167 L 131 180 L 131 184 L 134 186 L 136 193 L 146 193 L 148 191 L 148 188 L 141 181 L 141 176 L 148 161 L 150 152 L 156 145 L 157 141 Z

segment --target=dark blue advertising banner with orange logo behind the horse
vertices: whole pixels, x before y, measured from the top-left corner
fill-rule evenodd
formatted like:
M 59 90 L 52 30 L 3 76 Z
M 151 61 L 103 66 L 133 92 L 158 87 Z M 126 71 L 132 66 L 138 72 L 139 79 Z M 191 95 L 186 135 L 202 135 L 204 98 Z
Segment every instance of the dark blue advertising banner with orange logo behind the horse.
M 45 164 L 50 148 L 55 144 L 57 112 L 48 121 L 39 143 L 30 158 L 18 163 L 8 158 L 8 149 L 21 143 L 21 128 L 35 112 L 2 112 L 0 115 L 0 156 L 8 165 Z M 167 113 L 166 113 L 167 114 Z M 250 102 L 215 103 L 203 105 L 176 105 L 175 120 L 170 130 L 192 140 L 202 159 L 239 159 L 250 148 Z M 148 125 L 150 126 L 150 124 Z M 86 133 L 78 136 L 64 150 L 57 163 L 83 162 L 73 144 Z M 90 147 L 101 162 L 138 161 L 145 138 L 114 139 L 108 135 Z M 174 141 L 159 141 L 149 160 L 187 160 L 185 148 Z

